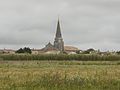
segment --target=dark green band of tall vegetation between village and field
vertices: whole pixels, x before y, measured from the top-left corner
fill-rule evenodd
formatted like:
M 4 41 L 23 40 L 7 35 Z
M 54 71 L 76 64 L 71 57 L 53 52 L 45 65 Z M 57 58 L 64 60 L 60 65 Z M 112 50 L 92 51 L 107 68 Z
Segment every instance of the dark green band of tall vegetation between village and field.
M 13 54 L 0 55 L 1 60 L 77 60 L 77 61 L 120 61 L 120 55 L 66 55 L 66 54 Z

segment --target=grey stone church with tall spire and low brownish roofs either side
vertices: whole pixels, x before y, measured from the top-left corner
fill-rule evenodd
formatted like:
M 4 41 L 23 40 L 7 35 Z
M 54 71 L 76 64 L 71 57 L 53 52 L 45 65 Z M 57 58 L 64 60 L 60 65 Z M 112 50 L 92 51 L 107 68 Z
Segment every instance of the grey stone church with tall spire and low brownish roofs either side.
M 54 44 L 51 44 L 50 42 L 42 49 L 38 50 L 38 53 L 44 53 L 44 54 L 59 54 L 61 52 L 65 53 L 76 53 L 79 49 L 73 46 L 65 46 L 64 40 L 61 33 L 61 26 L 60 21 L 58 19 L 57 22 L 57 29 L 54 39 Z M 36 50 L 32 50 L 33 53 L 35 53 Z M 37 51 L 36 51 L 37 54 Z

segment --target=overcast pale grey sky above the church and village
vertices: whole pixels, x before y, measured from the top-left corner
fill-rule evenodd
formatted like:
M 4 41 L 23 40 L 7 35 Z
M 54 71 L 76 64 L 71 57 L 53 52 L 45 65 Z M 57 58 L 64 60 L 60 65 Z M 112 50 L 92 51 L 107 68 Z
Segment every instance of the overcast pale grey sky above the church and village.
M 120 50 L 120 0 L 0 0 L 0 48 L 53 43 L 58 16 L 65 45 Z

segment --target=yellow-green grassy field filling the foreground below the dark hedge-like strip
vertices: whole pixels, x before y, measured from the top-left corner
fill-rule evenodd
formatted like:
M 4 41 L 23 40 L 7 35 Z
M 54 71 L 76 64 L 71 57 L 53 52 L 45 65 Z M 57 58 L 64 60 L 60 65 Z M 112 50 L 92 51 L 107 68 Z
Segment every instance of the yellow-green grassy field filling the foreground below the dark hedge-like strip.
M 120 90 L 120 61 L 0 61 L 0 90 Z

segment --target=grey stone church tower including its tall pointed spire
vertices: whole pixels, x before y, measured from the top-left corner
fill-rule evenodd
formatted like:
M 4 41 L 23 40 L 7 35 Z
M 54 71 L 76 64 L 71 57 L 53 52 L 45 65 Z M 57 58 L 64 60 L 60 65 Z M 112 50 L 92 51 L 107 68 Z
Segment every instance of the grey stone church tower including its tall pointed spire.
M 64 41 L 62 39 L 59 19 L 58 19 L 58 22 L 57 22 L 57 31 L 56 31 L 55 41 L 54 41 L 54 47 L 57 48 L 60 51 L 64 51 Z

